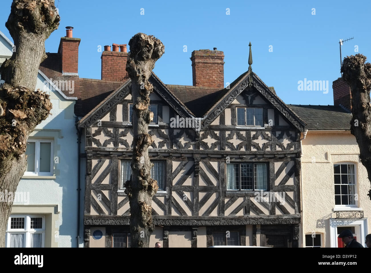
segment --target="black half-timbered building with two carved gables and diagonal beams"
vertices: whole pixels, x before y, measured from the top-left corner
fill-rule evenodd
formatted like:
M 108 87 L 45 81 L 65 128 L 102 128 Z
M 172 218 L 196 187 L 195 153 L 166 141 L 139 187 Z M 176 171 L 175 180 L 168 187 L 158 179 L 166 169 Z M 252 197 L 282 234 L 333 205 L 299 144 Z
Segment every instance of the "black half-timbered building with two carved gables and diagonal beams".
M 102 53 L 102 79 L 104 56 L 118 53 Z M 148 152 L 159 189 L 150 244 L 298 247 L 305 123 L 252 72 L 251 48 L 249 70 L 225 88 L 223 58 L 216 49 L 194 51 L 194 86 L 166 85 L 151 75 Z M 131 175 L 130 83 L 123 81 L 79 121 L 85 247 L 130 246 L 123 186 Z

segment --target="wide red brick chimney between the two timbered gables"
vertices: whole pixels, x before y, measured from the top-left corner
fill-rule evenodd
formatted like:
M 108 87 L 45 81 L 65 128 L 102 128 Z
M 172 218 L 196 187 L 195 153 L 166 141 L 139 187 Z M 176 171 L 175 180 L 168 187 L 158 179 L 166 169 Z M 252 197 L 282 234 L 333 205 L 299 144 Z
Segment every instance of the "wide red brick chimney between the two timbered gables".
M 200 49 L 192 52 L 193 86 L 224 88 L 224 52 Z

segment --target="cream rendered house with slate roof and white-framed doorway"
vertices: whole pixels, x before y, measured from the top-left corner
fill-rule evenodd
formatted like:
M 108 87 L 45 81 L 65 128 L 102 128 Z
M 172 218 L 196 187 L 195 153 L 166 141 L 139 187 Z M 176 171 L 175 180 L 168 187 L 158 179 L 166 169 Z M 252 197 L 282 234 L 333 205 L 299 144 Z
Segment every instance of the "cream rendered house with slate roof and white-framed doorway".
M 338 79 L 333 88 L 334 104 L 341 104 L 347 98 L 337 91 L 346 85 Z M 346 95 L 350 101 L 350 89 Z M 302 247 L 344 247 L 338 238 L 344 229 L 365 246 L 371 231 L 370 181 L 350 133 L 352 114 L 343 105 L 288 105 L 308 130 L 301 137 Z

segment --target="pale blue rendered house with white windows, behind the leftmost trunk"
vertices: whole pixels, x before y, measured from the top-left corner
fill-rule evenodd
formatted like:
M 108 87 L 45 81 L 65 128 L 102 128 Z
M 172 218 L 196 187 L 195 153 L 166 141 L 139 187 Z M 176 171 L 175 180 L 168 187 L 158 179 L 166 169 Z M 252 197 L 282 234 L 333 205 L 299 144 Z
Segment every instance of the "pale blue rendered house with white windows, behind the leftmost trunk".
M 12 56 L 12 49 L 13 43 L 0 31 L 0 65 Z M 14 194 L 7 247 L 83 245 L 78 215 L 77 98 L 66 96 L 56 85 L 39 70 L 36 89 L 50 95 L 52 115 L 27 140 L 27 170 Z

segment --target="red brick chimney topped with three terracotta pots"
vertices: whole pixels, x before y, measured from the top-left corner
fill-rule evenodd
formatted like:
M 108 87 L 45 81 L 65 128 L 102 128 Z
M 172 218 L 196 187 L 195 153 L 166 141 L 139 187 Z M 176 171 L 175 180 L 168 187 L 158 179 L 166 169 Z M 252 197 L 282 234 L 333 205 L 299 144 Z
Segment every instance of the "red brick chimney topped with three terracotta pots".
M 102 52 L 102 79 L 109 81 L 126 81 L 129 79 L 126 72 L 126 62 L 128 59 L 127 45 L 112 44 L 112 51 L 110 46 L 104 46 Z M 121 51 L 118 51 L 120 48 Z

